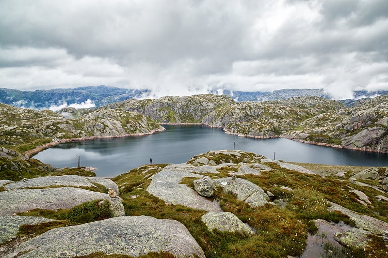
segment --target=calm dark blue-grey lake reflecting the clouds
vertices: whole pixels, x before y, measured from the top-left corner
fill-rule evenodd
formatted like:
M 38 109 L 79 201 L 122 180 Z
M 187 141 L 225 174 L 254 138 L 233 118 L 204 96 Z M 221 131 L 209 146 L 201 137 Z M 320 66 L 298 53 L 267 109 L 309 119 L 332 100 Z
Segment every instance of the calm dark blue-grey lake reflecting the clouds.
M 54 167 L 97 167 L 97 176 L 114 177 L 149 164 L 185 163 L 210 150 L 255 152 L 268 158 L 352 166 L 388 166 L 388 154 L 358 152 L 295 142 L 284 138 L 253 139 L 225 134 L 200 125 L 164 126 L 166 131 L 142 137 L 121 137 L 64 143 L 39 152 L 34 158 Z

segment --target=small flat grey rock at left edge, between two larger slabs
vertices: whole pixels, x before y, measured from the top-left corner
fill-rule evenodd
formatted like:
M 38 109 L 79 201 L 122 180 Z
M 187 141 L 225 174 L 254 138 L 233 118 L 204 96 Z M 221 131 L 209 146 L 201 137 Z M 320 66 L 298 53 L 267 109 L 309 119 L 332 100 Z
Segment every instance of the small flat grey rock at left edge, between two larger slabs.
M 21 225 L 36 225 L 49 221 L 54 220 L 42 217 L 0 216 L 0 243 L 15 238 Z

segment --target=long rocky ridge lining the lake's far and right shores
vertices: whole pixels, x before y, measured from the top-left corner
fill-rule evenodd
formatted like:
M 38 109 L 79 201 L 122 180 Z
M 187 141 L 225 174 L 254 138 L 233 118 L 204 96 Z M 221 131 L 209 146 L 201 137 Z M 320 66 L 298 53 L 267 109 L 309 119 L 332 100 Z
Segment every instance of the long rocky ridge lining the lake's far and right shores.
M 353 107 L 321 97 L 234 103 L 225 95 L 163 97 L 110 104 L 161 123 L 202 123 L 242 137 L 286 137 L 311 144 L 388 152 L 388 95 Z

